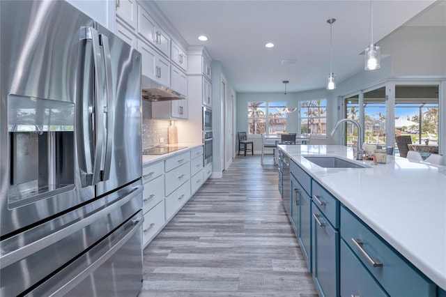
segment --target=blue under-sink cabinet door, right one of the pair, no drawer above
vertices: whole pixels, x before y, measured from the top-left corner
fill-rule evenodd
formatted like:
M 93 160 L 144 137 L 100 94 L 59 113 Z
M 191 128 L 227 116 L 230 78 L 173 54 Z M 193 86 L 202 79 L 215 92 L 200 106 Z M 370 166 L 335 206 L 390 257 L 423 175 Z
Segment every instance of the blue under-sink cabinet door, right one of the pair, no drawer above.
M 299 193 L 299 245 L 304 254 L 309 272 L 312 273 L 312 199 L 307 192 Z

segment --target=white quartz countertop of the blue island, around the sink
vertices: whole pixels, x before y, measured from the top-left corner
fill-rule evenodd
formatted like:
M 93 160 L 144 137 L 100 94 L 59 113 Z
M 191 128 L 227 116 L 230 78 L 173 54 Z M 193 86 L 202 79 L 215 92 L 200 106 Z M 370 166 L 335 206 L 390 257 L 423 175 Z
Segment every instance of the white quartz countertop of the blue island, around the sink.
M 323 168 L 305 155 L 353 160 L 346 146 L 279 148 L 374 229 L 439 287 L 446 290 L 446 167 L 387 156 L 370 168 Z

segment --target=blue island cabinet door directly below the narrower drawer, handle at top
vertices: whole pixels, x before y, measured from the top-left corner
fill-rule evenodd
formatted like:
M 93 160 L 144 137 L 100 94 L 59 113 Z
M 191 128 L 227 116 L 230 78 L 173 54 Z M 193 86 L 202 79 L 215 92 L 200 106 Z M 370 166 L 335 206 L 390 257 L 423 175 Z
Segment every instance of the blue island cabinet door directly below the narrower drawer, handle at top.
M 339 231 L 312 203 L 313 278 L 319 296 L 339 296 Z

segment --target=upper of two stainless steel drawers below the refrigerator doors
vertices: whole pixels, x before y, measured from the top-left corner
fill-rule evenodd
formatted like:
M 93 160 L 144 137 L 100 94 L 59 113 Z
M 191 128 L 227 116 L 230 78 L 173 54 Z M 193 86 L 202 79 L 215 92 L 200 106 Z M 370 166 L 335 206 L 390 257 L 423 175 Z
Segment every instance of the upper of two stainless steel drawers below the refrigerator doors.
M 30 291 L 61 267 L 75 261 L 140 211 L 141 195 L 141 181 L 138 181 L 1 241 L 0 296 L 17 296 Z

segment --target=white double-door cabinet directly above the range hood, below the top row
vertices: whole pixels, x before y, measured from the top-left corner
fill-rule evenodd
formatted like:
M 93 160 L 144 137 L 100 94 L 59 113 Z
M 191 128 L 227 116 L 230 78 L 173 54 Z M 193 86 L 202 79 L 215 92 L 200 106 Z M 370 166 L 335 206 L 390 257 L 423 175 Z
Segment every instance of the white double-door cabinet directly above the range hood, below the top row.
M 138 40 L 138 51 L 141 52 L 142 75 L 170 86 L 170 62 L 142 40 Z

